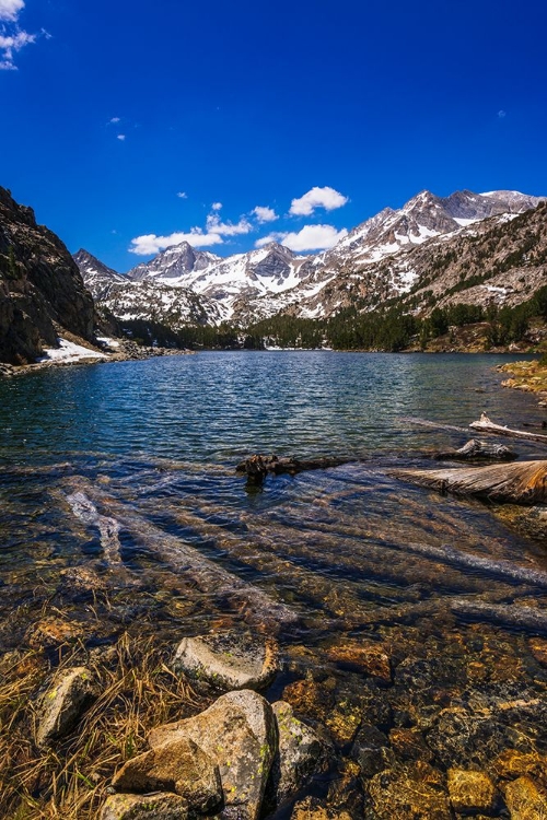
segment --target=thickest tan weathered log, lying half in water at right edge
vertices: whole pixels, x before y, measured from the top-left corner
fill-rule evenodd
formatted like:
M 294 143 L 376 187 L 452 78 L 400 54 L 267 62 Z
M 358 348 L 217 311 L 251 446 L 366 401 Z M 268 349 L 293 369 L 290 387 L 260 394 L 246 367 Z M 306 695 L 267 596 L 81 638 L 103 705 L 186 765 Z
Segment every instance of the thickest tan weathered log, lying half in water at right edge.
M 441 493 L 472 495 L 510 504 L 547 501 L 547 461 L 444 470 L 391 470 L 389 475 Z

